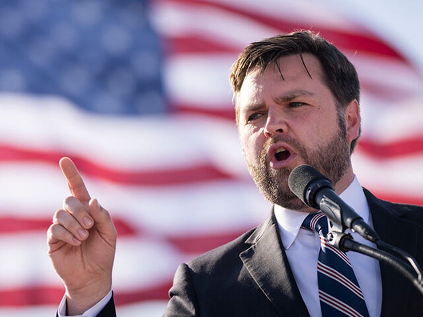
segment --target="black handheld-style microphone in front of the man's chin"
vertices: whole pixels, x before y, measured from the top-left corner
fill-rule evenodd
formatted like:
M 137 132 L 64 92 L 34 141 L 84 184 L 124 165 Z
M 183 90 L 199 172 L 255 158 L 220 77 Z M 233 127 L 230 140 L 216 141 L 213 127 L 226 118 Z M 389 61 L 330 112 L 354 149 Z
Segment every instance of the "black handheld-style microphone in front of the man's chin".
M 333 223 L 354 230 L 377 242 L 380 237 L 353 208 L 335 192 L 332 182 L 310 165 L 299 165 L 289 174 L 289 189 L 309 207 L 320 209 Z

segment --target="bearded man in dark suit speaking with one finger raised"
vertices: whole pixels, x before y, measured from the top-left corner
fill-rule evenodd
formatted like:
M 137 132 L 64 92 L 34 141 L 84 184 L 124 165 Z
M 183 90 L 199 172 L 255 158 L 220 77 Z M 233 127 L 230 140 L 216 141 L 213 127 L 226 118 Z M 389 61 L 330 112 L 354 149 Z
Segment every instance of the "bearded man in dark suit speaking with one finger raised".
M 300 164 L 325 174 L 382 240 L 423 263 L 423 208 L 379 200 L 354 175 L 360 85 L 336 47 L 309 31 L 251 43 L 232 65 L 230 82 L 245 161 L 274 208 L 257 228 L 181 264 L 164 316 L 322 316 L 328 305 L 319 298 L 320 238 L 301 227 L 316 210 L 287 184 Z M 113 316 L 116 230 L 71 160 L 62 159 L 60 167 L 72 196 L 48 230 L 49 256 L 66 289 L 59 313 Z M 423 316 L 423 298 L 408 280 L 370 257 L 348 257 L 364 298 L 363 316 Z M 345 316 L 330 309 L 337 312 L 331 316 Z

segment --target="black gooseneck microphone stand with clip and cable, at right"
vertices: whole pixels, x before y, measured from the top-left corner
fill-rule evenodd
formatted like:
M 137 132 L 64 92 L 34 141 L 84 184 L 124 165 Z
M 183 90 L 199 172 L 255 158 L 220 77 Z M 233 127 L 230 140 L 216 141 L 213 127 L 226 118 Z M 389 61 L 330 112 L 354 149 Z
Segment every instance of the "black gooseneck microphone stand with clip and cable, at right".
M 334 224 L 333 222 L 330 224 L 332 226 L 329 227 L 335 228 L 335 230 L 329 231 L 328 235 L 326 236 L 328 242 L 331 245 L 343 252 L 354 251 L 370 256 L 379 261 L 385 262 L 386 264 L 390 265 L 395 270 L 400 272 L 405 278 L 410 280 L 413 285 L 419 290 L 419 292 L 423 295 L 422 271 L 419 265 L 417 264 L 416 260 L 411 255 L 399 248 L 396 248 L 386 242 L 383 242 L 380 239 L 378 241 L 375 241 L 378 247 L 388 249 L 397 253 L 409 262 L 407 263 L 406 261 L 392 253 L 375 249 L 355 241 L 353 237 L 349 233 L 345 233 L 342 228 L 341 231 L 338 231 L 338 229 L 340 229 L 339 225 Z

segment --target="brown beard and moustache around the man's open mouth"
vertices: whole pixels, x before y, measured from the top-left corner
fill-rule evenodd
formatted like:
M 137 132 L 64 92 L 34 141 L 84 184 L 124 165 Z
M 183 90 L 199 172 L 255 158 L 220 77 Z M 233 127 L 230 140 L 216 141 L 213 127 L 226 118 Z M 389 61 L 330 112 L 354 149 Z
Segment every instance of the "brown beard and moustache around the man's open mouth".
M 288 176 L 291 168 L 273 169 L 270 167 L 268 149 L 272 144 L 281 141 L 293 146 L 305 164 L 319 170 L 333 184 L 336 184 L 342 178 L 350 165 L 350 147 L 344 123 L 339 125 L 338 133 L 335 133 L 325 145 L 311 152 L 307 152 L 304 146 L 296 140 L 286 137 L 269 138 L 260 152 L 258 163 L 253 164 L 247 160 L 246 162 L 248 170 L 262 195 L 270 202 L 282 207 L 301 210 L 306 208 L 306 205 L 288 187 Z

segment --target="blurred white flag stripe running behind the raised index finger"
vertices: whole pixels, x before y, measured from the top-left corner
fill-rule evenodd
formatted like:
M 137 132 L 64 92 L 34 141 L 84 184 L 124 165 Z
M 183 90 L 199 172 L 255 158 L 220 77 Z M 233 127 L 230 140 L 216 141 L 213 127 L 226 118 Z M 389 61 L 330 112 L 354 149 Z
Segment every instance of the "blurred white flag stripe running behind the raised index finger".
M 70 195 L 54 165 L 2 163 L 0 174 L 0 188 L 7 188 L 0 191 L 0 210 L 12 216 L 49 219 Z M 112 216 L 156 234 L 246 230 L 260 223 L 271 209 L 252 182 L 229 180 L 148 188 L 83 177 L 91 196 L 98 198 Z

